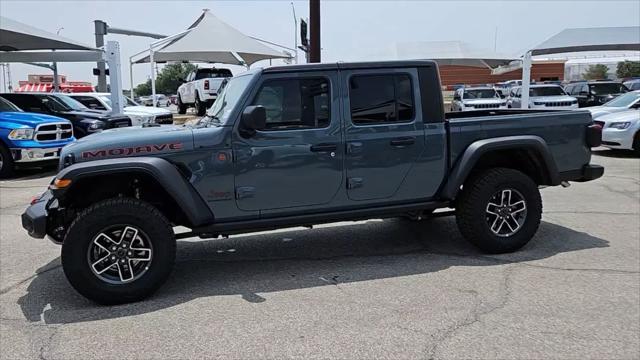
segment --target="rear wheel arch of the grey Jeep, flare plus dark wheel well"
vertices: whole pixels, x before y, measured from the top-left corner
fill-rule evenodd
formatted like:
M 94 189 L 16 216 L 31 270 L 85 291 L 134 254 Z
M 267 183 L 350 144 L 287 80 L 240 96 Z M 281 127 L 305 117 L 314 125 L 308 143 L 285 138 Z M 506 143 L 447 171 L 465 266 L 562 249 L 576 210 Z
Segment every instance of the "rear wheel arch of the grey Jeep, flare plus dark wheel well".
M 560 183 L 558 168 L 544 139 L 533 135 L 499 137 L 478 140 L 467 147 L 449 173 L 442 198 L 455 199 L 473 173 L 492 167 L 522 171 L 538 185 Z

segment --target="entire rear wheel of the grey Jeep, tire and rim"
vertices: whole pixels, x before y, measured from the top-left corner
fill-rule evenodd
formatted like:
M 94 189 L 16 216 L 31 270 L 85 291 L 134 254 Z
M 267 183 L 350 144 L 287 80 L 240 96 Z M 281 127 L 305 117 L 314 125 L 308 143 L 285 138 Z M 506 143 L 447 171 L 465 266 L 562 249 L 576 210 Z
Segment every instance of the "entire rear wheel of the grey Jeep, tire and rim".
M 527 244 L 541 217 L 536 183 L 507 168 L 487 170 L 465 183 L 456 208 L 462 235 L 488 253 L 512 252 Z

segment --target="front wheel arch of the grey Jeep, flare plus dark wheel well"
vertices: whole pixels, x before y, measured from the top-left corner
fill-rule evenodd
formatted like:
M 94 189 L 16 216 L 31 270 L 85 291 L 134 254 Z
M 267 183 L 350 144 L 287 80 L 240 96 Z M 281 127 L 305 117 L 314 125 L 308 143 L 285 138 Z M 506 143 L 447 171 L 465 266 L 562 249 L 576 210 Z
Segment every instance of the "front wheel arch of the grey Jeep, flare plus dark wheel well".
M 82 208 L 95 201 L 132 196 L 154 204 L 179 225 L 202 226 L 214 219 L 184 171 L 162 158 L 77 163 L 62 170 L 57 178 L 71 180 L 69 187 L 53 190 L 53 195 L 64 206 Z

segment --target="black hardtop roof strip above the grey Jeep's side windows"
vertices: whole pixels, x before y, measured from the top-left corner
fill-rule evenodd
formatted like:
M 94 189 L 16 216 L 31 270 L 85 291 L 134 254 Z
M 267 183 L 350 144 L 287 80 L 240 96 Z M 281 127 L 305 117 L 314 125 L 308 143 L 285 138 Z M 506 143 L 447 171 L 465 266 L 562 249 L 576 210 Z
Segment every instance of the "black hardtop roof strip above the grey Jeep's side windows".
M 385 69 L 404 67 L 435 67 L 432 60 L 395 60 L 395 61 L 366 61 L 366 62 L 336 62 L 313 63 L 272 66 L 264 68 L 263 73 L 293 72 L 293 71 L 322 71 L 322 70 L 346 70 L 346 69 Z

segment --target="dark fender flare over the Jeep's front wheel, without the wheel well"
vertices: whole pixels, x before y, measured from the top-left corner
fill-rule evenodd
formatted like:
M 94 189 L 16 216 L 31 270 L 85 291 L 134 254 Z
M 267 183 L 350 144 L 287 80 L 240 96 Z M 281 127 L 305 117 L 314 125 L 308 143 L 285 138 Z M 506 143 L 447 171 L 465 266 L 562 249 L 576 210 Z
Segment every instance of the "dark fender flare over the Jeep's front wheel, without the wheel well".
M 55 197 L 73 187 L 80 179 L 116 173 L 144 173 L 155 179 L 173 197 L 192 226 L 213 223 L 213 213 L 193 185 L 184 178 L 176 166 L 158 157 L 134 157 L 95 160 L 77 163 L 61 170 L 58 179 L 71 180 L 71 186 L 53 190 Z

